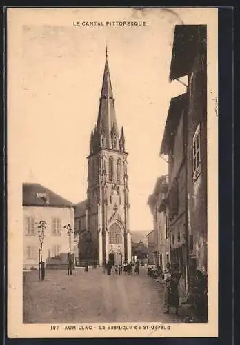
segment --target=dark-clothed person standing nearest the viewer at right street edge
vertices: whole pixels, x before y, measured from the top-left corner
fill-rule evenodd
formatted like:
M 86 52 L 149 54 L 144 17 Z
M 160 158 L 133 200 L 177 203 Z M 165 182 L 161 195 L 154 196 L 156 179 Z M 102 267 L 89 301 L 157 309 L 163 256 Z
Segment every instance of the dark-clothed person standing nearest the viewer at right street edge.
M 181 278 L 181 273 L 178 270 L 177 262 L 172 264 L 172 269 L 170 269 L 170 275 L 166 279 L 165 286 L 165 304 L 167 310 L 164 314 L 168 314 L 170 307 L 175 308 L 176 315 L 179 315 L 179 280 Z

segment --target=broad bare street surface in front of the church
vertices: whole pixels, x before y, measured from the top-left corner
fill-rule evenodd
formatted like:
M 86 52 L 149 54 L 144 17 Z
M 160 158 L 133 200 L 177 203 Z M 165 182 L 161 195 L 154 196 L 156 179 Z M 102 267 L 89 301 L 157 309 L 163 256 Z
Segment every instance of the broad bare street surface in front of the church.
M 106 275 L 102 268 L 48 270 L 39 282 L 38 271 L 23 273 L 23 322 L 181 322 L 165 315 L 163 284 L 146 275 Z

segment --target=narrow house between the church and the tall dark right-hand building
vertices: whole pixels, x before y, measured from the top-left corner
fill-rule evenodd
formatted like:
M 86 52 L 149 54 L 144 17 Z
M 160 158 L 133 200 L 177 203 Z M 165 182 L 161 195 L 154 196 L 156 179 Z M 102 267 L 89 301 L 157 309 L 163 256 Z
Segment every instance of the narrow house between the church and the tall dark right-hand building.
M 154 191 L 148 197 L 148 205 L 153 216 L 155 262 L 162 270 L 166 270 L 166 264 L 170 263 L 168 175 L 158 177 Z

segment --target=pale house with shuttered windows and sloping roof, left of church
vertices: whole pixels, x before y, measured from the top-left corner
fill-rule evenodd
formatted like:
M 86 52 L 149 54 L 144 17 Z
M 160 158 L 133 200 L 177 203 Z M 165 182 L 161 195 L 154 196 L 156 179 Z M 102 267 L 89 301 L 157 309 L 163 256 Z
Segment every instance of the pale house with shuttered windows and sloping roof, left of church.
M 69 236 L 64 226 L 74 228 L 73 204 L 41 184 L 23 183 L 23 268 L 39 266 L 39 221 L 46 221 L 43 240 L 43 261 L 48 264 L 68 264 L 68 253 L 76 253 L 74 234 Z M 54 265 L 55 266 L 55 265 Z

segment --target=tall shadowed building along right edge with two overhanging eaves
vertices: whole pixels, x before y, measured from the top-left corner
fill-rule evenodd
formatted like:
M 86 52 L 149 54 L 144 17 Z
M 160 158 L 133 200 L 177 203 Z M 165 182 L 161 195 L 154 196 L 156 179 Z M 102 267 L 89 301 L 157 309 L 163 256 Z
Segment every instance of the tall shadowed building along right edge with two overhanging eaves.
M 170 79 L 188 76 L 188 85 L 170 101 L 160 152 L 168 155 L 171 260 L 187 289 L 196 269 L 207 272 L 206 37 L 206 26 L 175 27 Z

